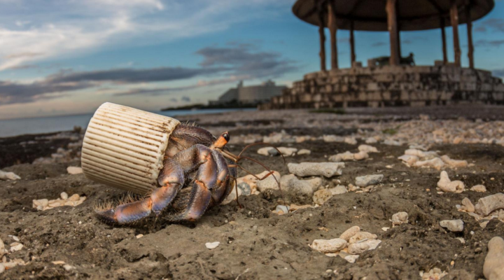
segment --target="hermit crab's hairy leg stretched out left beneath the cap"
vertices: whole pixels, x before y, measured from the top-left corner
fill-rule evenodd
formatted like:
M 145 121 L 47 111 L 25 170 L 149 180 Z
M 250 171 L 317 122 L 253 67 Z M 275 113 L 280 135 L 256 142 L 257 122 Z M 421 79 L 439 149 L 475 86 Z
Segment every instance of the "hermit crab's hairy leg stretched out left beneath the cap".
M 122 204 L 115 209 L 97 211 L 102 220 L 109 223 L 132 223 L 148 217 L 153 211 L 158 216 L 174 199 L 184 183 L 183 169 L 175 160 L 168 159 L 158 178 L 160 188 L 150 197 L 137 202 Z

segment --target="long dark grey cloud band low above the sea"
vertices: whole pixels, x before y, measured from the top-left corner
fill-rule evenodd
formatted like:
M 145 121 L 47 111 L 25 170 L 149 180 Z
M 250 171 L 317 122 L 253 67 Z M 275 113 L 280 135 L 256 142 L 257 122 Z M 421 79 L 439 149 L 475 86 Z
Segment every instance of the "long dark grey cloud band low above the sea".
M 131 96 L 144 94 L 158 96 L 254 78 L 276 78 L 290 71 L 297 65 L 290 59 L 276 52 L 258 50 L 255 44 L 236 44 L 232 47 L 207 47 L 196 53 L 202 55 L 200 67 L 159 67 L 151 69 L 109 69 L 99 71 L 72 71 L 65 69 L 43 80 L 33 83 L 15 83 L 0 80 L 0 105 L 35 102 L 40 99 L 62 97 L 63 94 L 91 87 L 108 88 L 108 85 L 131 85 L 130 90 L 113 92 L 113 96 Z M 20 66 L 15 66 L 20 67 Z M 144 86 L 148 83 L 170 82 L 190 78 L 209 78 L 197 83 L 179 87 Z M 213 78 L 215 77 L 215 78 Z M 137 85 L 141 84 L 142 87 Z M 99 92 L 99 90 L 97 90 Z M 102 90 L 104 92 L 104 90 Z M 112 92 L 112 93 L 110 93 Z M 184 101 L 184 100 L 183 100 Z

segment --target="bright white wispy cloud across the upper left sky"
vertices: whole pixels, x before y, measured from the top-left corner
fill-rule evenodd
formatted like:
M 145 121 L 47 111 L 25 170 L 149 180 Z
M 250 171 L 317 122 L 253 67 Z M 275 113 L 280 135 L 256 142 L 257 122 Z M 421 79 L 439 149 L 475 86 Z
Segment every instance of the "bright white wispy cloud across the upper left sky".
M 154 45 L 223 31 L 239 22 L 271 18 L 278 13 L 274 7 L 290 2 L 16 0 L 0 9 L 0 71 L 117 45 Z M 16 55 L 29 52 L 41 55 Z

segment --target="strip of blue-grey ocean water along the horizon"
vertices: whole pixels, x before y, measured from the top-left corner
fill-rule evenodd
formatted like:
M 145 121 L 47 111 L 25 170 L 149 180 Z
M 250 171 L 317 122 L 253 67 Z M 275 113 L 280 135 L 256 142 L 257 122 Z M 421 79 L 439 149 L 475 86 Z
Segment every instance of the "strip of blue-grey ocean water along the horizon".
M 223 113 L 229 111 L 254 111 L 255 109 L 203 109 L 203 110 L 176 110 L 157 111 L 163 116 L 195 115 L 201 113 Z M 46 132 L 59 132 L 72 130 L 73 126 L 87 127 L 93 114 L 55 116 L 43 118 L 17 118 L 12 120 L 0 120 L 0 137 L 11 137 L 22 134 L 38 134 Z

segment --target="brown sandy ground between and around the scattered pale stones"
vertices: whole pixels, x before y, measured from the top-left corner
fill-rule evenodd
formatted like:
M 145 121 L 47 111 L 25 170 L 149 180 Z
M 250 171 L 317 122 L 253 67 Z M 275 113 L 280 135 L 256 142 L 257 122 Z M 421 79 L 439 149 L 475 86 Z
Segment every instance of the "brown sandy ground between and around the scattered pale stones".
M 431 115 L 430 120 L 420 119 L 418 112 L 400 111 L 392 115 L 362 111 L 356 112 L 358 115 L 351 111 L 344 115 L 247 112 L 186 116 L 181 120 L 196 121 L 214 134 L 229 130 L 231 137 L 237 139 L 246 139 L 247 134 L 265 136 L 282 129 L 288 135 L 298 136 L 357 136 L 357 145 L 321 139 L 275 144 L 311 150 L 311 155 L 288 157 L 287 162 L 324 162 L 330 155 L 356 151 L 365 139 L 358 137 L 359 133 L 372 134 L 382 126 L 407 127 L 412 121 L 428 125 L 441 122 L 449 127 L 451 123 L 446 122 L 451 121 L 455 127 L 456 122 L 460 127 L 475 123 L 496 130 L 502 127 L 498 120 L 503 119 L 503 110 L 490 113 L 491 117 L 467 116 L 468 120 L 458 119 L 456 111 L 459 110 L 423 112 Z M 476 118 L 483 120 L 475 121 Z M 242 138 L 238 137 L 242 134 Z M 0 279 L 421 279 L 420 271 L 434 267 L 448 273 L 444 279 L 484 279 L 486 244 L 491 237 L 504 237 L 504 223 L 492 219 L 482 228 L 474 218 L 456 209 L 464 197 L 477 202 L 480 197 L 504 192 L 504 147 L 496 141 L 427 143 L 430 151 L 472 163 L 470 167 L 446 170 L 451 179 L 461 180 L 469 188 L 484 184 L 486 193 L 438 194 L 435 187 L 440 171 L 403 165 L 397 158 L 404 154 L 407 143 L 389 146 L 379 142 L 372 144 L 379 153 L 370 154 L 367 160 L 346 162 L 342 176 L 323 179 L 323 187 L 332 188 L 338 184 L 348 186 L 356 176 L 384 174 L 384 180 L 372 193 L 335 195 L 321 207 L 279 216 L 272 213 L 278 204 L 313 204 L 312 198 L 293 193 L 282 196 L 278 190 L 269 190 L 239 197 L 242 209 L 236 202 L 214 207 L 195 224 L 169 224 L 163 218 L 152 218 L 132 226 L 111 226 L 97 220 L 94 207 L 105 200 L 117 200 L 124 193 L 94 183 L 83 174 L 68 174 L 66 167 L 80 165 L 78 156 L 31 164 L 38 157 L 49 157 L 57 148 L 66 148 L 74 140 L 41 140 L 36 136 L 0 140 L 0 151 L 10 151 L 0 155 L 0 168 L 22 178 L 0 181 L 0 239 L 8 248 L 14 242 L 11 236 L 18 237 L 24 247 L 7 256 L 25 262 L 1 273 Z M 23 146 L 20 141 L 34 142 Z M 232 141 L 230 149 L 239 153 L 244 146 L 242 141 Z M 251 149 L 248 155 L 282 175 L 288 174 L 279 157 L 258 155 L 256 150 Z M 245 162 L 244 167 L 254 173 L 263 171 L 250 162 Z M 85 195 L 87 200 L 77 207 L 47 211 L 32 207 L 32 200 L 55 199 L 62 192 Z M 391 216 L 400 211 L 407 211 L 409 223 L 391 228 Z M 442 220 L 458 218 L 465 224 L 463 232 L 449 232 L 439 225 Z M 382 241 L 375 250 L 362 253 L 355 263 L 326 256 L 308 246 L 314 239 L 337 238 L 353 225 L 378 235 Z M 384 227 L 390 229 L 385 232 L 381 230 Z M 137 238 L 138 235 L 143 237 Z M 465 239 L 465 244 L 457 237 Z M 212 250 L 205 247 L 206 242 L 213 241 L 220 241 L 220 246 Z M 55 265 L 54 261 L 69 266 Z

